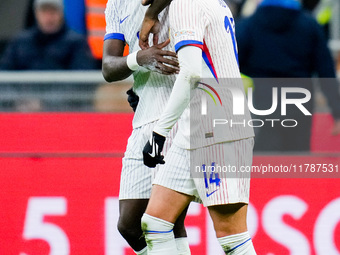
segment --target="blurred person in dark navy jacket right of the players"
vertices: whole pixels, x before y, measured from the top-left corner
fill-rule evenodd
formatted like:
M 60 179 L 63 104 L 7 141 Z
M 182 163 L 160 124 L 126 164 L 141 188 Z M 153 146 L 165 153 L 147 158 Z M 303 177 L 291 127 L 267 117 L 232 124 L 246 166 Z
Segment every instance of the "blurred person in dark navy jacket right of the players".
M 336 82 L 334 62 L 321 27 L 302 10 L 297 0 L 264 0 L 256 12 L 236 23 L 241 72 L 252 78 L 320 78 L 321 90 L 328 99 L 335 121 L 333 134 L 340 133 L 340 95 Z M 262 80 L 263 81 L 263 80 Z M 279 82 L 279 81 L 278 81 Z M 255 80 L 254 107 L 269 109 L 272 105 L 272 87 L 285 86 L 269 81 L 264 85 Z M 313 95 L 312 82 L 290 84 L 304 87 Z M 313 112 L 313 99 L 304 106 Z M 298 120 L 294 128 L 264 125 L 256 133 L 257 151 L 308 151 L 312 118 L 299 110 L 281 116 L 277 110 L 271 116 L 256 119 Z

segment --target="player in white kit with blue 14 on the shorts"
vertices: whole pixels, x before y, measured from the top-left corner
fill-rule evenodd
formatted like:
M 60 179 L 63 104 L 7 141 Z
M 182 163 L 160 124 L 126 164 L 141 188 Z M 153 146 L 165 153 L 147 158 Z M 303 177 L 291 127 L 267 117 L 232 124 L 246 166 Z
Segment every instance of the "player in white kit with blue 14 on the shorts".
M 153 11 L 148 14 L 157 13 L 154 11 L 156 1 L 163 0 L 154 0 L 150 7 Z M 250 176 L 242 171 L 252 164 L 253 130 L 248 125 L 225 125 L 220 129 L 209 125 L 213 121 L 210 117 L 206 123 L 195 122 L 195 107 L 201 96 L 197 88 L 202 85 L 202 78 L 210 78 L 209 88 L 218 91 L 220 113 L 225 119 L 238 124 L 250 120 L 245 100 L 235 105 L 238 101 L 235 96 L 244 98 L 244 92 L 232 14 L 223 0 L 173 0 L 169 12 L 171 39 L 178 53 L 180 73 L 143 150 L 146 164 L 165 163 L 156 176 L 142 218 L 148 252 L 176 254 L 173 223 L 193 197 L 199 196 L 209 210 L 224 252 L 256 254 L 246 224 Z M 151 20 L 155 17 L 151 16 Z M 219 86 L 222 89 L 217 90 Z M 234 110 L 238 112 L 241 108 L 243 114 L 236 115 Z M 162 147 L 177 121 L 178 132 L 164 162 Z M 193 163 L 198 166 L 195 176 L 190 173 Z M 216 168 L 228 165 L 235 169 L 234 174 L 227 171 L 228 168 L 225 172 Z

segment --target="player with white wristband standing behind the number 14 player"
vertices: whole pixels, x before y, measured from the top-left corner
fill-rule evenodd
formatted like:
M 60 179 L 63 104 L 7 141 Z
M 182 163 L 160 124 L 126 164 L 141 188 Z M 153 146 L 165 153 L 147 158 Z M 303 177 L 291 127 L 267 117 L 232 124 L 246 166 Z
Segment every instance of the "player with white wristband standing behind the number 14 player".
M 174 74 L 178 72 L 176 54 L 167 50 L 169 44 L 168 27 L 160 32 L 164 43 L 148 50 L 138 46 L 138 33 L 146 7 L 140 0 L 109 0 L 105 10 L 106 35 L 104 38 L 103 75 L 109 82 L 134 76 L 133 91 L 139 96 L 133 118 L 133 131 L 128 140 L 123 158 L 119 192 L 118 229 L 136 254 L 147 254 L 145 239 L 140 226 L 151 192 L 153 171 L 143 164 L 141 150 L 149 138 L 157 119 L 170 96 Z M 160 14 L 167 20 L 168 11 Z M 123 57 L 125 44 L 129 45 L 129 55 Z M 164 75 L 166 74 L 166 75 Z M 171 139 L 165 147 L 171 145 Z M 176 247 L 183 255 L 190 254 L 184 229 L 184 217 L 176 225 Z M 114 242 L 114 240 L 112 240 Z

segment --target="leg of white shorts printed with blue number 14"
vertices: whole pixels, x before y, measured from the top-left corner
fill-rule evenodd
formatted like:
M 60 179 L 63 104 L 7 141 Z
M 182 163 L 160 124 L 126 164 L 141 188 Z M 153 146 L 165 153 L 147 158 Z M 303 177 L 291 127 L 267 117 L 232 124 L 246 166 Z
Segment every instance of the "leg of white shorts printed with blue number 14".
M 249 138 L 191 153 L 192 176 L 205 206 L 249 202 L 253 145 Z

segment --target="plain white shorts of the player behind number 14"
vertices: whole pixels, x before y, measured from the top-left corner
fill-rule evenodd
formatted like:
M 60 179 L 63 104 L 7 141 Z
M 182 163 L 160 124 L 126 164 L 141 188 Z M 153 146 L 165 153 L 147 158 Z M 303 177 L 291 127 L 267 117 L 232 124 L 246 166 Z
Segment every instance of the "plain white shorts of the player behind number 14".
M 149 199 L 151 194 L 152 180 L 159 169 L 149 168 L 143 163 L 143 149 L 150 139 L 156 122 L 135 128 L 129 139 L 123 158 L 123 167 L 120 176 L 119 199 Z M 167 137 L 163 154 L 169 150 L 177 125 Z

